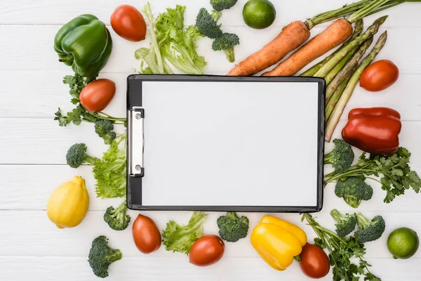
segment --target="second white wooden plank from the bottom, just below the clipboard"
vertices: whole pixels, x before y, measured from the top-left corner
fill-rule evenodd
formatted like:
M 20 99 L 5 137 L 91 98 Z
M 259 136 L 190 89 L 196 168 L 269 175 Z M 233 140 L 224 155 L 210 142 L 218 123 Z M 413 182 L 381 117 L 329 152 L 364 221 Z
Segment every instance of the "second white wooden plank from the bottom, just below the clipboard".
M 328 214 L 330 209 L 323 209 L 322 213 L 314 214 L 316 220 L 327 228 L 334 229 L 334 221 Z M 342 211 L 342 210 L 341 210 Z M 51 221 L 48 220 L 45 211 L 1 211 L 0 223 L 3 226 L 13 224 L 13 228 L 4 228 L 1 230 L 0 249 L 1 256 L 85 256 L 88 254 L 89 246 L 92 240 L 98 235 L 109 237 L 111 245 L 121 249 L 124 256 L 140 256 L 140 252 L 133 244 L 131 235 L 131 225 L 123 231 L 115 231 L 107 226 L 102 220 L 103 211 L 90 211 L 83 222 L 76 228 L 60 230 L 56 228 Z M 135 220 L 137 211 L 130 211 L 132 223 Z M 153 218 L 160 230 L 166 226 L 166 222 L 171 219 L 179 223 L 187 223 L 192 212 L 158 212 L 148 211 L 142 212 L 146 216 Z M 216 220 L 223 213 L 209 213 L 208 220 L 204 225 L 205 234 L 218 235 L 218 226 Z M 368 218 L 377 214 L 384 216 L 387 229 L 385 235 L 380 240 L 366 244 L 367 257 L 370 258 L 389 258 L 391 257 L 386 247 L 387 235 L 400 226 L 408 226 L 413 228 L 417 233 L 421 233 L 419 223 L 419 213 L 399 213 L 399 211 L 390 211 L 376 213 L 373 211 L 364 211 Z M 253 213 L 246 214 L 250 219 L 250 230 L 260 221 L 263 214 Z M 274 214 L 280 218 L 291 221 L 302 227 L 308 237 L 309 242 L 314 238 L 314 232 L 305 223 L 301 223 L 299 214 Z M 253 247 L 250 245 L 249 236 L 239 240 L 236 243 L 227 242 L 225 256 L 229 257 L 258 257 Z M 16 243 L 19 241 L 19 243 Z M 182 259 L 180 253 L 172 254 L 165 251 L 162 246 L 153 256 L 167 257 L 174 259 Z M 414 256 L 421 258 L 421 251 Z

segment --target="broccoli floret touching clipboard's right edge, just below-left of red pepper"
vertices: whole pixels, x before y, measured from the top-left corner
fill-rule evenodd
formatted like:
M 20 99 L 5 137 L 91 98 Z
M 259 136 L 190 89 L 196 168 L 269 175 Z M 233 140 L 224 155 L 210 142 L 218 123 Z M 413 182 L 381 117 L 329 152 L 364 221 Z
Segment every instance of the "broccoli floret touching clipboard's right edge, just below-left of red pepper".
M 345 171 L 354 162 L 354 151 L 349 143 L 338 138 L 333 140 L 333 144 L 335 148 L 325 155 L 324 164 L 331 164 L 335 171 Z

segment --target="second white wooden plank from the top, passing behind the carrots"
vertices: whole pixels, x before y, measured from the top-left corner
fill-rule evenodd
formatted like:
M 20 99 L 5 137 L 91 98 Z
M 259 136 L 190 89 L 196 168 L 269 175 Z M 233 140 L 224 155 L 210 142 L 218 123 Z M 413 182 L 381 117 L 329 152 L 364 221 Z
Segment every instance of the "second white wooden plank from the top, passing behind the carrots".
M 53 51 L 53 38 L 60 26 L 51 25 L 0 25 L 0 72 L 11 71 L 51 71 L 70 73 L 70 68 L 58 63 L 57 55 Z M 385 28 L 381 28 L 380 32 Z M 417 53 L 418 37 L 421 27 L 392 27 L 387 29 L 389 39 L 378 59 L 387 58 L 399 62 L 401 73 L 420 74 L 421 58 Z M 259 50 L 279 33 L 279 27 L 269 27 L 265 32 L 251 30 L 248 27 L 227 27 L 227 32 L 235 32 L 241 39 L 241 46 L 236 47 L 236 62 L 246 58 L 250 53 Z M 315 27 L 313 36 L 323 31 L 323 27 Z M 149 46 L 147 41 L 133 43 L 116 37 L 112 32 L 114 46 L 109 63 L 103 72 L 131 72 L 139 67 L 134 59 L 134 52 L 142 46 Z M 31 51 L 27 51 L 27 44 L 31 42 Z M 396 51 L 399 50 L 399 51 Z M 224 74 L 233 66 L 228 63 L 225 53 L 211 50 L 211 40 L 204 38 L 199 41 L 199 53 L 206 55 L 208 74 Z M 13 57 L 13 60 L 9 59 Z M 25 65 L 25 67 L 22 67 Z M 46 77 L 48 78 L 48 77 Z

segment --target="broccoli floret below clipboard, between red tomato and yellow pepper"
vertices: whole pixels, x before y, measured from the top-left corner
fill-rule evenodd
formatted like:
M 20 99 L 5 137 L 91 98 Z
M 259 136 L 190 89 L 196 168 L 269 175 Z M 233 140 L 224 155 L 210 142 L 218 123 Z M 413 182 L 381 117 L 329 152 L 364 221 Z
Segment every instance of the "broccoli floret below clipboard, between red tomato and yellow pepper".
M 237 216 L 234 211 L 229 211 L 227 216 L 220 216 L 216 221 L 220 237 L 228 242 L 237 242 L 247 236 L 248 218 Z

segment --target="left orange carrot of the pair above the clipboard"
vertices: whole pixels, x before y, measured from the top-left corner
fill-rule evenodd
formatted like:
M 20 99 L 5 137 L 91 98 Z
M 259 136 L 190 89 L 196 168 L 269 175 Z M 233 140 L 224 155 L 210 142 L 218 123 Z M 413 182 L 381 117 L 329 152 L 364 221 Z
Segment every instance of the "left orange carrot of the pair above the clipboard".
M 248 76 L 265 70 L 278 63 L 290 51 L 295 50 L 310 37 L 310 31 L 304 22 L 291 22 L 283 27 L 282 32 L 260 51 L 248 56 L 227 73 L 229 76 Z

